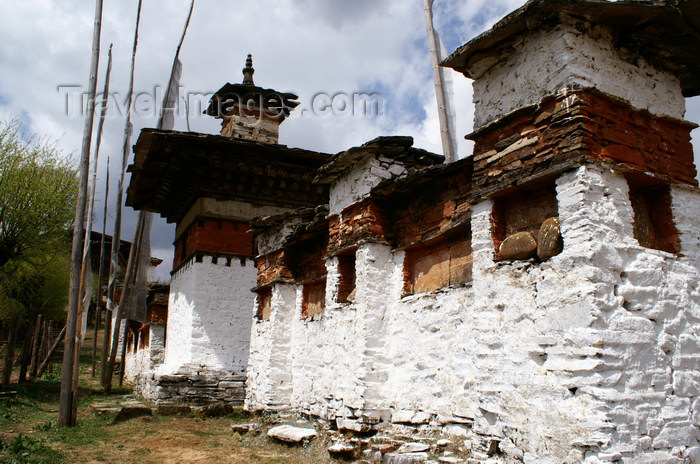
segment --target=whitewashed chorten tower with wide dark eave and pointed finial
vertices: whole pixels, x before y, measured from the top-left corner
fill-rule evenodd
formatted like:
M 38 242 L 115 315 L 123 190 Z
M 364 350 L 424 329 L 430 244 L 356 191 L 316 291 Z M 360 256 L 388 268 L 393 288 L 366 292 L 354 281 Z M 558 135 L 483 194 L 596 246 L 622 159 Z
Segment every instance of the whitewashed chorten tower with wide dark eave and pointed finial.
M 328 155 L 278 145 L 296 95 L 257 87 L 248 55 L 206 114 L 222 135 L 144 129 L 134 147 L 127 205 L 177 224 L 165 360 L 137 379 L 165 402 L 242 403 L 256 285 L 249 221 L 327 202 L 312 185 Z M 280 168 L 283 165 L 284 168 Z

